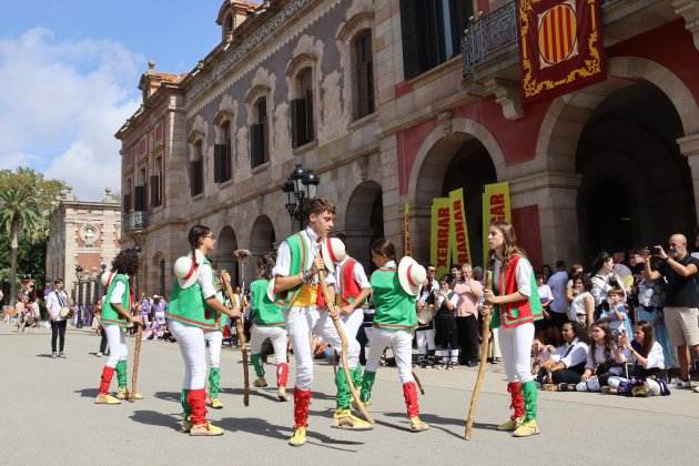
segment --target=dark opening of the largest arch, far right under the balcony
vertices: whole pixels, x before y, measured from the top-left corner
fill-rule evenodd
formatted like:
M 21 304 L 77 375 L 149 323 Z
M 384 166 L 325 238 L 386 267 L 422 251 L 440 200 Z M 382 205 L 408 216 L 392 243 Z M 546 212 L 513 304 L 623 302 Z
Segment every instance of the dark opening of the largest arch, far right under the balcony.
M 682 134 L 672 102 L 645 80 L 591 112 L 576 158 L 584 256 L 661 244 L 675 231 L 691 231 L 691 172 L 676 143 Z

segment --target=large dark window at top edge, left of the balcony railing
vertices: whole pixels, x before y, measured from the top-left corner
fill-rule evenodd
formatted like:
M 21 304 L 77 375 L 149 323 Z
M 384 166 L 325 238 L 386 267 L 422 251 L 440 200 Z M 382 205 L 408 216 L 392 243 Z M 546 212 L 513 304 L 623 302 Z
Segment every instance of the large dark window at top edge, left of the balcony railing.
M 460 51 L 462 31 L 473 14 L 463 0 L 402 0 L 403 69 L 414 78 Z

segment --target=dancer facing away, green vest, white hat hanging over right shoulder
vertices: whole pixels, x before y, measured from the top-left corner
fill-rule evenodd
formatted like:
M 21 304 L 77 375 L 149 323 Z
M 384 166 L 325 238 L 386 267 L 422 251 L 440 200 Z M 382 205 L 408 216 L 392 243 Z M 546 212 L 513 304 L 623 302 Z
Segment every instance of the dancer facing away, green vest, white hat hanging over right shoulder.
M 372 245 L 372 261 L 379 269 L 372 274 L 376 313 L 361 396 L 365 403 L 371 399 L 381 355 L 386 346 L 391 346 L 403 384 L 411 430 L 421 432 L 428 426 L 419 418 L 417 387 L 413 378 L 413 332 L 417 326 L 417 294 L 427 273 L 425 267 L 408 256 L 403 257 L 401 265 L 396 266 L 395 251 L 393 243 L 384 239 Z

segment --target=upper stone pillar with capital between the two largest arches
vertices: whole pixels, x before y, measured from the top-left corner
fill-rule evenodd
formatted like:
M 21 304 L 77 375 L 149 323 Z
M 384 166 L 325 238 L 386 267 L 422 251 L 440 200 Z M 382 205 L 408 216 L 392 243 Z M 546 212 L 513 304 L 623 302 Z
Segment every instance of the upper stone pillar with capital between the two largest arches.
M 580 261 L 577 173 L 540 172 L 510 180 L 511 207 L 538 205 L 544 263 Z

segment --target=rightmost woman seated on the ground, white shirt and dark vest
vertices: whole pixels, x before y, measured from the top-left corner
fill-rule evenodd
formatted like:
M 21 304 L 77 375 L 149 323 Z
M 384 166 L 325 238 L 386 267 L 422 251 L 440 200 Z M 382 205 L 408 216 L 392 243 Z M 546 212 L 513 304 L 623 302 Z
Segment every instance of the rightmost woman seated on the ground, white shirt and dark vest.
M 625 348 L 625 356 L 632 359 L 634 365 L 628 371 L 628 377 L 626 374 L 624 377 L 609 377 L 608 383 L 612 388 L 609 393 L 615 393 L 622 382 L 636 377 L 646 379 L 650 395 L 660 395 L 661 385 L 667 386 L 667 374 L 662 346 L 656 342 L 652 326 L 646 321 L 639 321 L 634 327 L 634 340 L 629 341 L 625 335 L 621 335 L 620 344 Z

